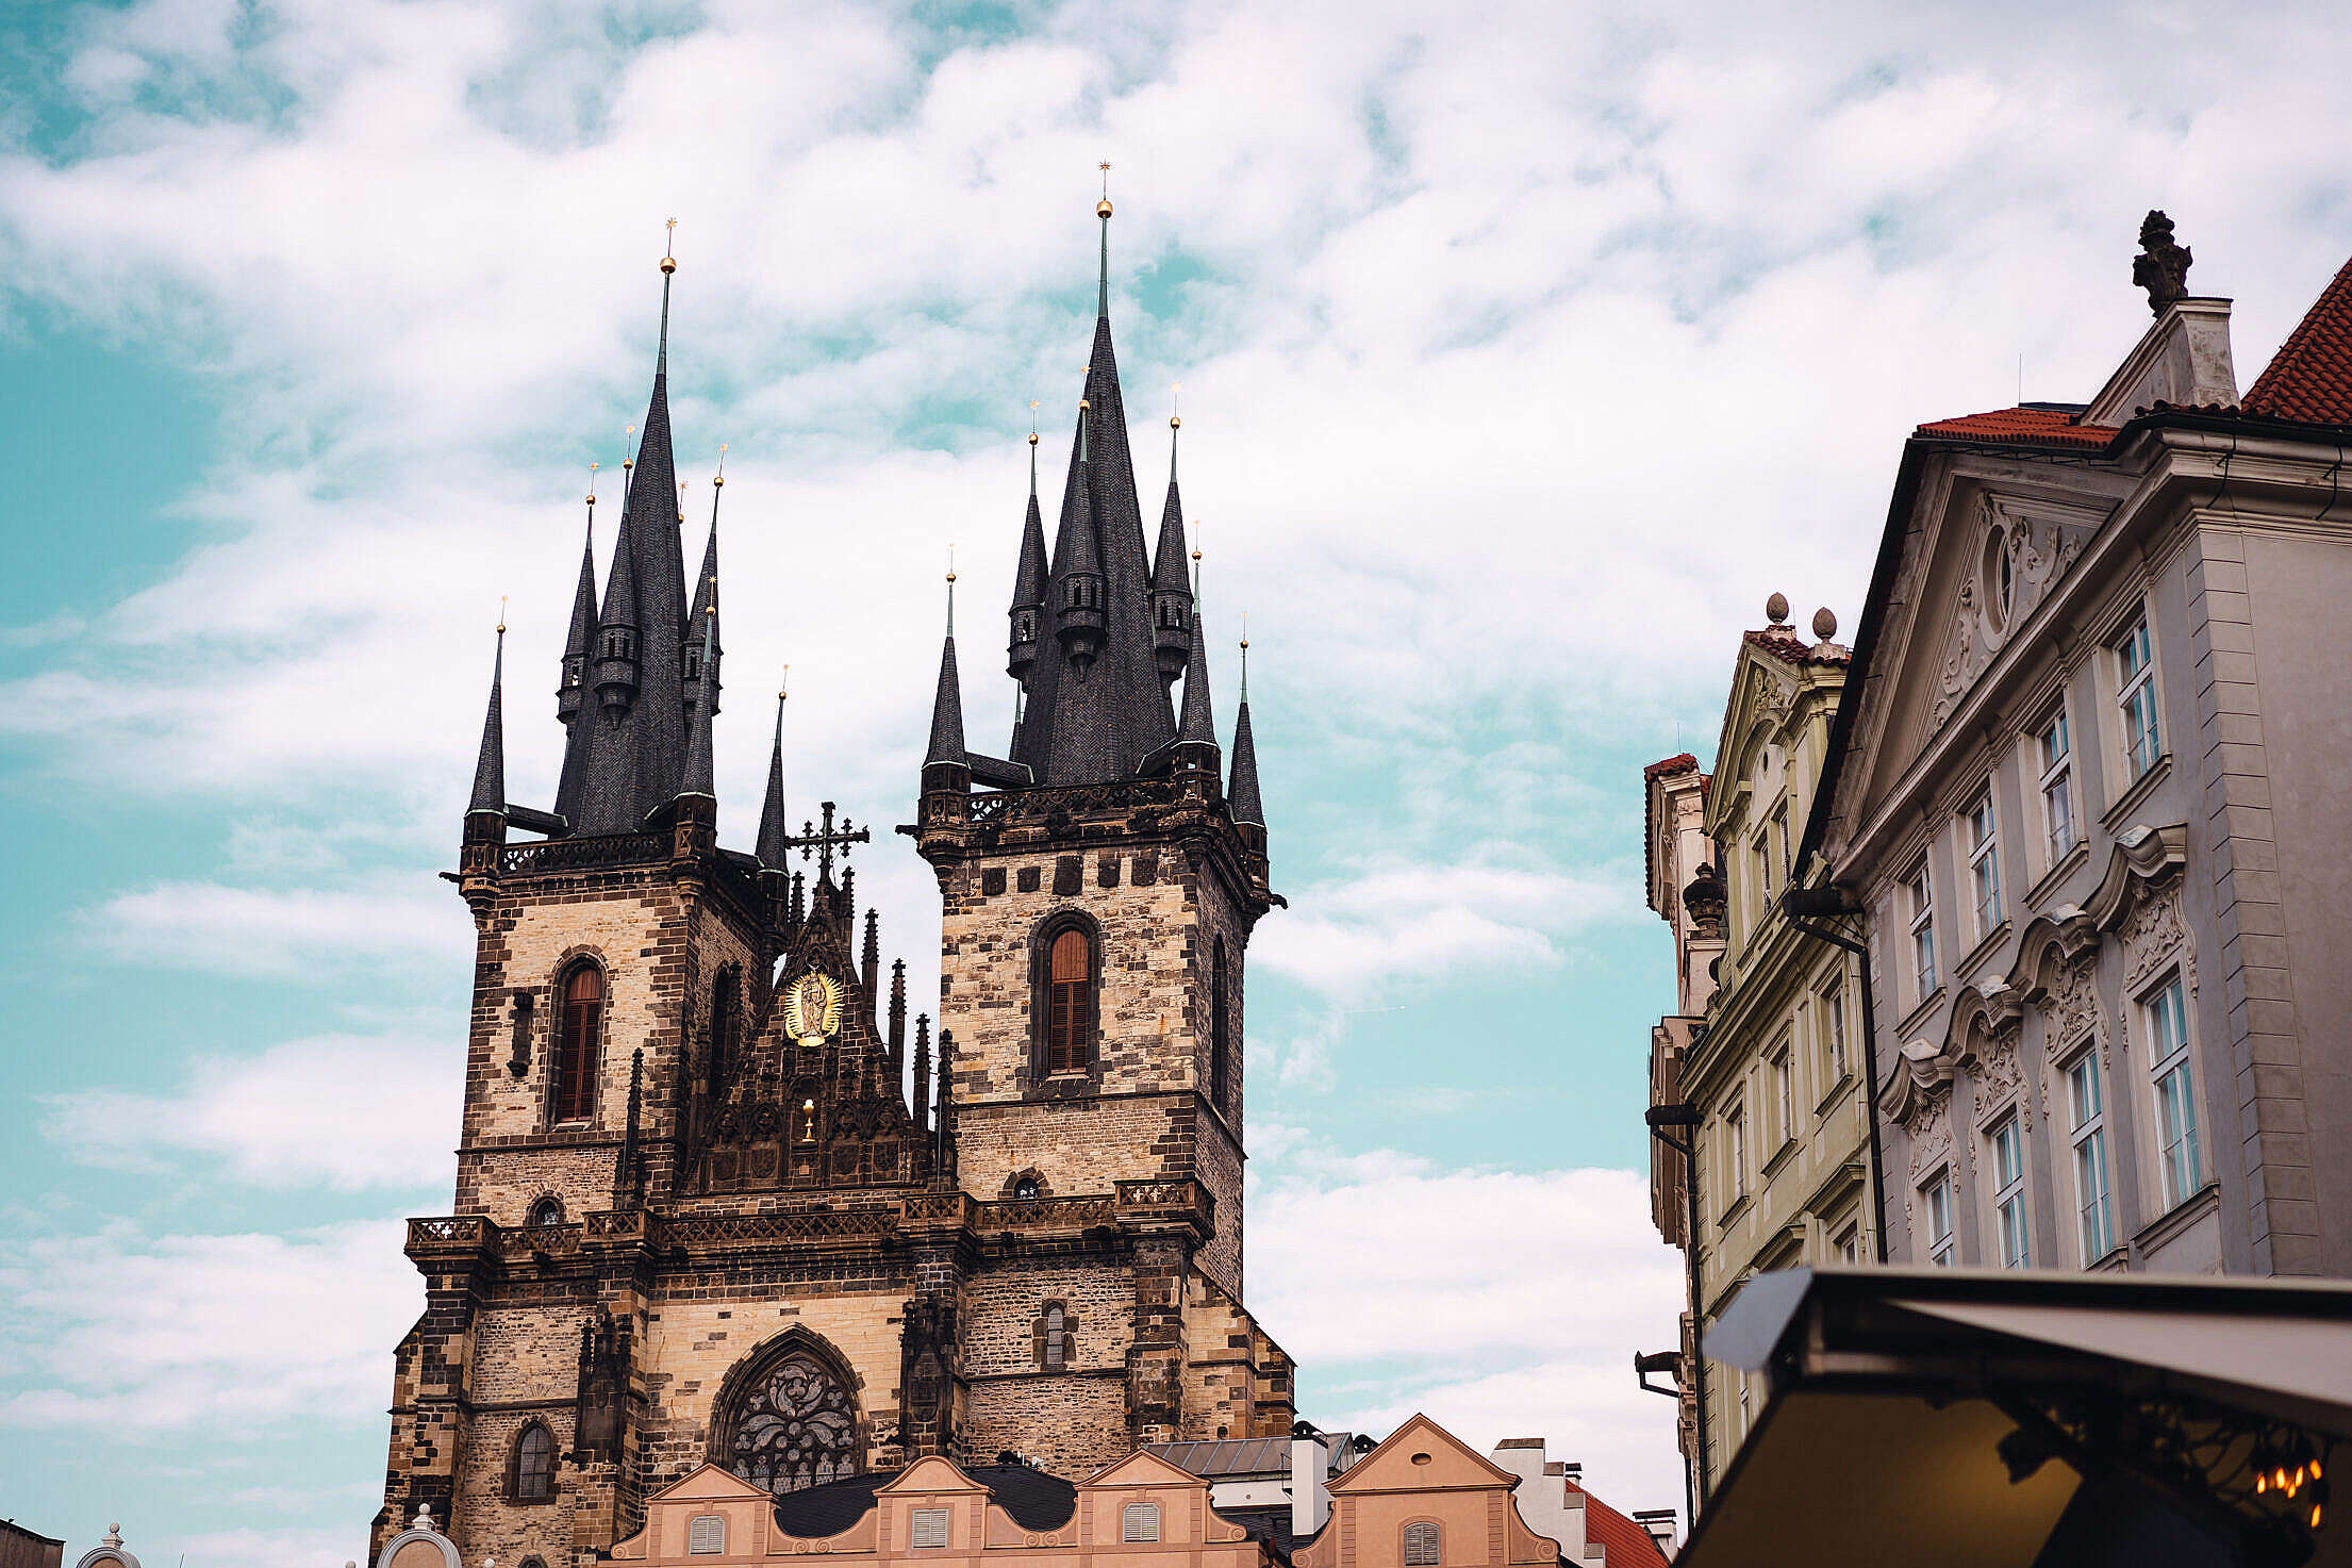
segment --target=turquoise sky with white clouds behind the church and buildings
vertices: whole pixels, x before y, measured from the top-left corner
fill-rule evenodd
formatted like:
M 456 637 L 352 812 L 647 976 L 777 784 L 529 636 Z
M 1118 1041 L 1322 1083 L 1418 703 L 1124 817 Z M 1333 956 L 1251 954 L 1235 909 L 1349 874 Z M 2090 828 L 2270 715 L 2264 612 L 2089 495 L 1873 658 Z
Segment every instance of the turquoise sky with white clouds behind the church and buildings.
M 452 1201 L 435 872 L 501 597 L 510 795 L 553 797 L 663 221 L 680 473 L 727 442 L 722 837 L 786 665 L 793 799 L 889 825 L 950 545 L 974 745 L 1011 719 L 1103 160 L 1143 505 L 1183 383 L 1289 898 L 1249 1305 L 1322 1425 L 1679 1505 L 1632 1378 L 1682 1279 L 1642 764 L 1712 755 L 1769 592 L 1853 625 L 1910 425 L 2098 388 L 2145 209 L 2253 378 L 2352 254 L 2347 56 L 2286 5 L 7 7 L 0 1516 L 362 1554 L 400 1222 Z M 927 994 L 929 872 L 882 832 L 858 886 Z

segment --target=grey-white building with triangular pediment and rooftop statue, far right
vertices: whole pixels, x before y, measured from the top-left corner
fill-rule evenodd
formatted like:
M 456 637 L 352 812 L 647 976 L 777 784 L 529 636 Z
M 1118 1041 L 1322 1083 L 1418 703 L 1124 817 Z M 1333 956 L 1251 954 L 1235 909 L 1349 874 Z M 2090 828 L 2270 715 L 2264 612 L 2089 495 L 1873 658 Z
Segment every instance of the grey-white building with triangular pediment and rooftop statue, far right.
M 2164 214 L 2084 404 L 1905 442 L 1806 825 L 1898 1262 L 2352 1272 L 2352 266 L 2239 395 Z

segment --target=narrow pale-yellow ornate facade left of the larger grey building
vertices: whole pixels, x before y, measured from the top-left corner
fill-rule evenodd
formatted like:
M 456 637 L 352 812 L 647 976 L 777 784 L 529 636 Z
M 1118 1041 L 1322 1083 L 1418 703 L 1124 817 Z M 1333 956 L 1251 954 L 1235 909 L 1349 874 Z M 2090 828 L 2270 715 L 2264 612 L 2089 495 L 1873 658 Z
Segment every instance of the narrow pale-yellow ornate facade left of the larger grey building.
M 1853 954 L 1783 905 L 1846 649 L 1828 609 L 1811 639 L 1783 595 L 1764 611 L 1766 625 L 1740 635 L 1715 771 L 1689 755 L 1644 769 L 1649 898 L 1675 931 L 1682 1004 L 1651 1032 L 1651 1105 L 1689 1107 L 1698 1154 L 1693 1178 L 1675 1147 L 1653 1145 L 1651 1218 L 1684 1251 L 1696 1298 L 1700 1333 L 1686 1324 L 1675 1371 L 1700 1493 L 1762 1408 L 1762 1380 L 1696 1361 L 1705 1331 L 1757 1274 L 1860 1262 L 1877 1239 L 1860 978 Z

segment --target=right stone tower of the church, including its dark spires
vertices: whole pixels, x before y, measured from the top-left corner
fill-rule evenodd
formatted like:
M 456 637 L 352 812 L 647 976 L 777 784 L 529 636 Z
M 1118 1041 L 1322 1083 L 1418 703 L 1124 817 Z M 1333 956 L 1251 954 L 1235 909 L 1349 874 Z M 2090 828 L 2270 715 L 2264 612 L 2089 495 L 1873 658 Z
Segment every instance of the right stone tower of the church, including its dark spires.
M 1240 1305 L 1242 976 L 1275 903 L 1256 755 L 1244 715 L 1228 790 L 1174 416 L 1145 550 L 1110 341 L 1108 200 L 1098 219 L 1094 350 L 1051 555 L 1030 437 L 1007 637 L 1021 719 L 1007 757 L 967 750 L 950 632 L 913 830 L 946 910 L 938 1016 L 957 1041 L 964 1192 L 1117 1220 L 995 1288 L 1108 1314 L 1124 1375 L 1101 1354 L 1058 1378 L 1018 1356 L 974 1361 L 974 1441 L 1070 1465 L 1101 1453 L 1087 1429 L 1112 1446 L 1263 1436 L 1289 1429 L 1291 1406 L 1287 1359 Z M 1049 1410 L 1075 1429 L 1040 1439 Z

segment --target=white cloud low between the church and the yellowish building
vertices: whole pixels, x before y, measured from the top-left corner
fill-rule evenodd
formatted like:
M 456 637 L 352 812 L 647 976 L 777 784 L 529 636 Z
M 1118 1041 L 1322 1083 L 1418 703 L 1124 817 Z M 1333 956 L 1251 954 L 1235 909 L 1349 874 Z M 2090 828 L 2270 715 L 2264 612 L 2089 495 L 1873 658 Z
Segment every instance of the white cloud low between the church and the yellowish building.
M 1675 1410 L 1632 1378 L 1637 1349 L 1675 1345 L 1684 1293 L 1642 1175 L 1277 1143 L 1249 1194 L 1249 1300 L 1331 1389 L 1303 1415 L 1381 1436 L 1425 1410 L 1479 1448 L 1548 1436 L 1618 1507 L 1679 1500 Z

